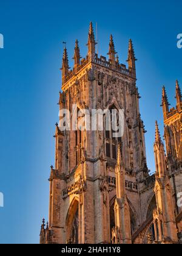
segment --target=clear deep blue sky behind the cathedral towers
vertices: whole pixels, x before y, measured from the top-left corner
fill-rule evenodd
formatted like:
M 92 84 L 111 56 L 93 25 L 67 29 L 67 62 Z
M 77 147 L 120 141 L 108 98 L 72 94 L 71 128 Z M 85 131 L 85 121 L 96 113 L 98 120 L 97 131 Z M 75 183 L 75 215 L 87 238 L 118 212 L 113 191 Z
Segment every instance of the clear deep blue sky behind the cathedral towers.
M 0 243 L 39 243 L 41 219 L 48 218 L 53 134 L 58 121 L 62 41 L 70 65 L 75 39 L 86 55 L 89 22 L 98 23 L 99 54 L 113 34 L 126 63 L 132 38 L 138 59 L 141 116 L 146 125 L 147 160 L 154 169 L 155 120 L 163 133 L 161 87 L 175 105 L 175 80 L 182 85 L 181 0 L 10 1 L 0 4 L 1 179 Z

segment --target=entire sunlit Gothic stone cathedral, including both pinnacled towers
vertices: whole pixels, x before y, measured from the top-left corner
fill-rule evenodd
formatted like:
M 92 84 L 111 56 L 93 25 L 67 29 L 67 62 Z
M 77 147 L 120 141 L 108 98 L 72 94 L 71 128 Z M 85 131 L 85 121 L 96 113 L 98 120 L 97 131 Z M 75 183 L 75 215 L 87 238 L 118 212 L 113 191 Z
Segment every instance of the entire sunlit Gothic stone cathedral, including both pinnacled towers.
M 178 193 L 182 192 L 180 86 L 177 82 L 177 107 L 171 110 L 163 88 L 167 154 L 156 123 L 156 172 L 150 176 L 132 41 L 129 41 L 128 66 L 120 64 L 116 57 L 112 36 L 109 60 L 98 57 L 92 23 L 87 46 L 87 57 L 81 60 L 76 40 L 72 71 L 64 49 L 59 109 L 68 109 L 71 115 L 73 104 L 78 110 L 90 113 L 92 109 L 123 109 L 124 135 L 113 138 L 106 129 L 61 132 L 56 124 L 55 168 L 52 166 L 49 179 L 49 223 L 46 227 L 45 221 L 42 223 L 40 243 L 180 243 L 182 208 L 177 204 Z

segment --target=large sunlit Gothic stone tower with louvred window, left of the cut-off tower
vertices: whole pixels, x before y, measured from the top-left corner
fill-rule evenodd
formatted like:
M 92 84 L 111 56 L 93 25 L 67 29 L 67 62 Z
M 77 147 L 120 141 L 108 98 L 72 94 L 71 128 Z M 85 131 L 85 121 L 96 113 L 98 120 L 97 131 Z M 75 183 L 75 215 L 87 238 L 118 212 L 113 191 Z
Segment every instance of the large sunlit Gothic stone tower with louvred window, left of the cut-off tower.
M 41 243 L 131 243 L 132 234 L 145 220 L 138 183 L 149 177 L 149 171 L 132 40 L 128 66 L 119 62 L 112 36 L 109 60 L 98 57 L 92 23 L 87 46 L 87 56 L 81 59 L 76 40 L 72 71 L 64 49 L 60 112 L 69 110 L 72 117 L 84 109 L 92 118 L 92 110 L 124 110 L 124 135 L 114 138 L 112 130 L 106 130 L 106 116 L 104 130 L 64 131 L 60 117 L 55 168 L 49 179 L 49 225 L 45 229 L 42 224 Z M 71 118 L 70 127 L 72 122 Z M 120 221 L 122 214 L 126 221 Z

